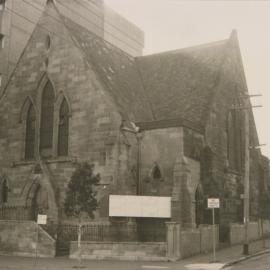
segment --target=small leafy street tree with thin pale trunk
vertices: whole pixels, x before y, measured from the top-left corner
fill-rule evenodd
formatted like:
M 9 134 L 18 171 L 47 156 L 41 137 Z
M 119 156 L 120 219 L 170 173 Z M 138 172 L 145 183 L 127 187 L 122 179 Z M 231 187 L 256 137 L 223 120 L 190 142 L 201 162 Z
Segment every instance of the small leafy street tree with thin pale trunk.
M 98 207 L 95 186 L 99 184 L 99 174 L 94 174 L 94 166 L 87 162 L 79 163 L 67 187 L 64 211 L 68 217 L 78 219 L 79 266 L 81 265 L 81 221 L 84 215 L 94 218 Z

